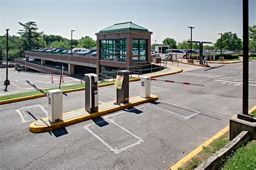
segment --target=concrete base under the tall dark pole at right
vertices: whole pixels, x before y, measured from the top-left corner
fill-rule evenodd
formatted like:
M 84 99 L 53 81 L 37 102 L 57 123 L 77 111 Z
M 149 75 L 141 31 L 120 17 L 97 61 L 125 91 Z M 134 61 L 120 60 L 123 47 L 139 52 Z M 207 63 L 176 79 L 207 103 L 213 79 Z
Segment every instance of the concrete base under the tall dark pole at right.
M 234 115 L 230 118 L 230 140 L 233 140 L 241 131 L 248 131 L 250 138 L 256 140 L 256 122 L 248 122 Z

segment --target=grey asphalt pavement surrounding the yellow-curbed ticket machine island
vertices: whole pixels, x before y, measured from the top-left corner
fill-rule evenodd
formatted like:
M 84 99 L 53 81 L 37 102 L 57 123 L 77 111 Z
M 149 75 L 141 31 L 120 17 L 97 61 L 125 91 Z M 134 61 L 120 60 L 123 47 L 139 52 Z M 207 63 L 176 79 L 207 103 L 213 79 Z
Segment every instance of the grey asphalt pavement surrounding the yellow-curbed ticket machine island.
M 249 67 L 251 108 L 256 103 L 256 62 Z M 46 133 L 29 131 L 32 121 L 47 116 L 45 97 L 1 105 L 0 164 L 3 169 L 169 168 L 241 111 L 240 68 L 200 67 L 159 77 L 205 86 L 152 81 L 151 94 L 158 95 L 158 101 Z M 130 82 L 130 97 L 139 95 L 139 86 Z M 99 103 L 115 99 L 113 86 L 99 88 Z M 63 111 L 84 108 L 84 102 L 84 91 L 68 93 Z

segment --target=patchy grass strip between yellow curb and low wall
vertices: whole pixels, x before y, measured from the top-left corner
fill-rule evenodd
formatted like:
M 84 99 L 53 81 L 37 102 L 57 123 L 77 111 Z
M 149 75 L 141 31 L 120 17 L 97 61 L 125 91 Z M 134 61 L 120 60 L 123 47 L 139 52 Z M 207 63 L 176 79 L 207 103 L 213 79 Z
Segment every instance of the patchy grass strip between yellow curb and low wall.
M 207 158 L 211 157 L 212 154 L 219 151 L 229 142 L 228 133 L 224 133 L 218 139 L 215 139 L 210 145 L 203 148 L 203 151 L 199 152 L 192 159 L 188 160 L 183 166 L 178 169 L 194 169 L 198 167 Z

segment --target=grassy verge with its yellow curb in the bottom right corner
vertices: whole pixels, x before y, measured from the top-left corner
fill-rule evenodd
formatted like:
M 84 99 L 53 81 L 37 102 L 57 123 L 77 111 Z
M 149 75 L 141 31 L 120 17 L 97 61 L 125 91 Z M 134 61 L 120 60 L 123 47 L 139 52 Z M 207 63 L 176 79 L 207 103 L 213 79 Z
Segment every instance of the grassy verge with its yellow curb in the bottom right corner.
M 253 114 L 256 117 L 256 105 L 248 111 L 249 114 Z M 221 148 L 230 147 L 227 144 L 230 142 L 228 137 L 229 126 L 221 130 L 215 136 L 208 139 L 204 144 L 200 145 L 196 150 L 192 151 L 186 157 L 174 164 L 170 169 L 195 169 L 202 162 L 210 158 L 213 154 L 216 154 Z M 253 148 L 249 150 L 248 148 Z M 246 152 L 242 152 L 246 151 Z M 222 152 L 222 151 L 221 151 Z M 241 169 L 241 165 L 244 164 L 244 167 L 247 166 L 248 169 L 255 169 L 255 157 L 256 152 L 256 142 L 253 140 L 251 143 L 248 143 L 247 146 L 243 146 L 238 149 L 238 153 L 234 153 L 225 159 L 221 160 L 220 167 L 224 169 L 229 169 L 230 167 L 237 167 L 235 169 Z M 236 155 L 237 154 L 237 155 Z M 239 159 L 238 158 L 253 158 L 253 159 Z M 253 162 L 250 162 L 253 160 Z M 208 160 L 207 160 L 208 161 Z M 245 169 L 247 169 L 245 168 Z M 199 168 L 200 169 L 200 168 Z

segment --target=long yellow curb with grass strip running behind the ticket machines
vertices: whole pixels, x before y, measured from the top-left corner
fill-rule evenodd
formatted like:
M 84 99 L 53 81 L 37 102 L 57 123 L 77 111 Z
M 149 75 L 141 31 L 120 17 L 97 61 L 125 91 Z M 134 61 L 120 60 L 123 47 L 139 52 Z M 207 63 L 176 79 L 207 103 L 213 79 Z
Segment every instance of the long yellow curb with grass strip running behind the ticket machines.
M 183 72 L 183 69 L 180 68 L 180 70 L 178 70 L 177 72 L 155 74 L 155 75 L 152 75 L 151 77 L 153 78 L 153 77 L 166 76 L 166 75 L 171 75 L 171 74 L 177 74 L 180 72 Z M 130 77 L 129 81 L 132 82 L 132 81 L 139 81 L 139 80 L 140 80 L 140 78 Z M 114 81 L 103 81 L 103 82 L 99 82 L 99 87 L 111 86 L 113 84 L 114 84 Z M 70 93 L 72 91 L 84 90 L 85 89 L 84 86 L 85 86 L 84 83 L 71 85 L 71 86 L 63 86 L 63 87 L 60 87 L 60 90 L 63 90 L 63 93 Z M 47 92 L 47 91 L 53 90 L 53 89 L 58 89 L 58 88 L 44 89 L 44 91 Z M 42 93 L 40 93 L 39 91 L 30 91 L 30 92 L 25 92 L 25 93 L 20 93 L 20 94 L 1 96 L 0 97 L 0 105 L 30 100 L 30 99 L 39 98 L 39 97 L 44 97 L 44 95 Z

